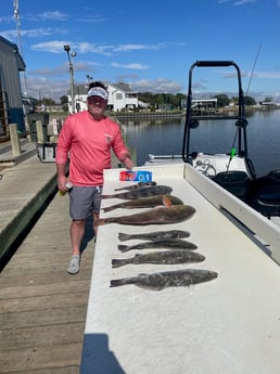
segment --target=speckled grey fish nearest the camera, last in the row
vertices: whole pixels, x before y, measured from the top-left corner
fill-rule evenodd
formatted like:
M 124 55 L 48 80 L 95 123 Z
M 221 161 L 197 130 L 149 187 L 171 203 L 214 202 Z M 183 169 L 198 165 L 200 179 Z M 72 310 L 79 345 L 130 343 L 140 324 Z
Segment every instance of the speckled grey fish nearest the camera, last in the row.
M 142 273 L 137 276 L 111 280 L 111 287 L 133 284 L 138 287 L 162 291 L 166 287 L 182 287 L 192 284 L 208 282 L 218 276 L 216 271 L 201 269 L 186 269 L 175 271 L 164 271 L 156 273 Z

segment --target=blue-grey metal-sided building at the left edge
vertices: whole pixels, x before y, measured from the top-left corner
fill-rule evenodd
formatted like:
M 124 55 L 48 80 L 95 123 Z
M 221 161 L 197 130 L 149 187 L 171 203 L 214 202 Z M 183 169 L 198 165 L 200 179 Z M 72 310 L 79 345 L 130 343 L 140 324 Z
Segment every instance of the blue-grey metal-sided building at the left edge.
M 20 72 L 25 63 L 17 46 L 0 36 L 0 141 L 9 139 L 9 124 L 25 131 Z

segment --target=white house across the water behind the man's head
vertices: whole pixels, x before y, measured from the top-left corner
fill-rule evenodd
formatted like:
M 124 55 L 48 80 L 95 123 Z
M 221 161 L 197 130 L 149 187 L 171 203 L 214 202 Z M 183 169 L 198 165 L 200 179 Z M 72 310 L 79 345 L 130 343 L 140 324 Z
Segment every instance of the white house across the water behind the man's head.
M 111 85 L 107 83 L 109 101 L 107 108 L 112 112 L 129 111 L 140 106 L 138 101 L 138 93 L 130 91 L 130 88 L 126 83 Z M 75 112 L 87 109 L 87 85 L 74 86 L 74 101 Z M 72 108 L 71 94 L 68 91 L 69 112 Z

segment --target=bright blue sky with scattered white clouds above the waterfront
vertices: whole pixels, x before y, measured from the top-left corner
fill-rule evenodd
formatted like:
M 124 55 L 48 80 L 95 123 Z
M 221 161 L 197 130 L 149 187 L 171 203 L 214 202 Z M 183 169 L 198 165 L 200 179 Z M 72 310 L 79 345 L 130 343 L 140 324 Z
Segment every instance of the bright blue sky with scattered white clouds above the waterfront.
M 17 0 L 17 18 L 15 0 L 0 3 L 0 36 L 22 52 L 23 90 L 36 99 L 67 94 L 69 46 L 75 83 L 187 93 L 195 61 L 228 60 L 245 94 L 280 102 L 280 0 Z M 195 68 L 192 89 L 237 94 L 236 70 Z

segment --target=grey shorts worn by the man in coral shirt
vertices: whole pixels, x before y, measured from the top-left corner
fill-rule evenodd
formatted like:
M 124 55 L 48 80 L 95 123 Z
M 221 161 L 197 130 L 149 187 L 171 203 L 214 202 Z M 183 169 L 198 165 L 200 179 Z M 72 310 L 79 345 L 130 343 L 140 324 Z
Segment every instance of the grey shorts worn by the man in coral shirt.
M 86 219 L 90 214 L 99 214 L 102 186 L 77 186 L 69 192 L 69 215 L 72 219 Z

